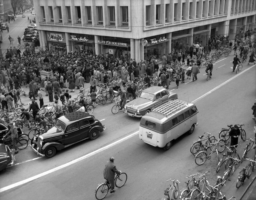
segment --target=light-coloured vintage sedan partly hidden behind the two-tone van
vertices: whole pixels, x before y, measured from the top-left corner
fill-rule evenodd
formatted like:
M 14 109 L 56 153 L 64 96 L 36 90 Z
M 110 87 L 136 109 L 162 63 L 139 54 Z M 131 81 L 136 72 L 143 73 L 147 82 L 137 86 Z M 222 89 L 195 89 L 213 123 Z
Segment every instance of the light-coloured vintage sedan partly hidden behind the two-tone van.
M 124 106 L 124 113 L 132 117 L 142 117 L 151 111 L 153 107 L 167 102 L 169 99 L 177 99 L 176 93 L 169 92 L 161 86 L 153 86 L 142 91 L 138 98 Z

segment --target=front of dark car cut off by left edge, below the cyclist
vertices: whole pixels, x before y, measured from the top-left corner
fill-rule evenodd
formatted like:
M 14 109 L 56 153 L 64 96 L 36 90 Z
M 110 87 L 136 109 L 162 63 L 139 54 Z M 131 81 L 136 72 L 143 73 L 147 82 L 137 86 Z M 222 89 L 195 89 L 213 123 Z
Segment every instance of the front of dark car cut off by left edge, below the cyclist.
M 0 144 L 0 171 L 14 164 L 15 157 L 7 145 Z

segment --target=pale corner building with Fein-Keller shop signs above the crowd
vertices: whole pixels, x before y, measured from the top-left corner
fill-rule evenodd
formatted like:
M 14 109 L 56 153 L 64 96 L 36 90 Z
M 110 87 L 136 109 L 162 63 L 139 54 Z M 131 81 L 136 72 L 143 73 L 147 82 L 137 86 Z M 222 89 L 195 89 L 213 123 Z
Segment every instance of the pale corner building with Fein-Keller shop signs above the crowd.
M 40 45 L 129 60 L 231 39 L 255 27 L 255 0 L 34 0 Z

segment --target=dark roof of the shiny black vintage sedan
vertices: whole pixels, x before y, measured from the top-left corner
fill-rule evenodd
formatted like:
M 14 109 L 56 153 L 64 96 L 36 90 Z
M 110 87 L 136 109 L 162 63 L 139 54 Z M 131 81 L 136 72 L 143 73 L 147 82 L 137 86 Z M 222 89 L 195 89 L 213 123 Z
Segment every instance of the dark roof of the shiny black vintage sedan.
M 72 113 L 63 115 L 59 117 L 58 120 L 63 122 L 66 125 L 69 125 L 69 124 L 78 122 L 81 119 L 86 119 L 86 118 L 89 119 L 89 118 L 92 118 L 92 116 L 88 113 L 77 111 L 77 112 L 72 112 Z

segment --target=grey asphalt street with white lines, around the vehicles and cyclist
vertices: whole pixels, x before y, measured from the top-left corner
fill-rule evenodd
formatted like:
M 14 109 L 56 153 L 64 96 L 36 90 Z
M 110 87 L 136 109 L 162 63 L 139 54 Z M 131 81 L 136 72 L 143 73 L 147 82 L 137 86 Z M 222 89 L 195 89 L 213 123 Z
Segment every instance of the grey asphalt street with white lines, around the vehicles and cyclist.
M 27 18 L 24 21 L 28 23 Z M 13 31 L 15 32 L 15 28 Z M 221 128 L 230 124 L 245 124 L 247 138 L 254 136 L 251 106 L 256 98 L 255 65 L 244 63 L 242 71 L 235 74 L 231 69 L 232 59 L 231 54 L 217 60 L 209 81 L 206 81 L 205 67 L 202 67 L 197 81 L 185 79 L 185 84 L 180 83 L 178 89 L 175 82 L 170 84 L 169 90 L 177 93 L 180 100 L 194 103 L 199 113 L 194 133 L 178 138 L 168 151 L 145 144 L 139 139 L 137 131 L 140 119 L 129 117 L 122 111 L 113 115 L 113 104 L 99 105 L 93 114 L 106 126 L 106 130 L 98 139 L 80 142 L 57 152 L 50 159 L 38 157 L 29 147 L 19 151 L 16 155 L 17 165 L 0 172 L 1 200 L 17 197 L 95 199 L 94 191 L 104 181 L 102 172 L 111 156 L 115 157 L 117 169 L 127 173 L 128 179 L 122 188 L 116 189 L 114 194 L 108 194 L 106 199 L 161 199 L 168 187 L 166 180 L 178 179 L 181 190 L 186 186 L 186 175 L 196 174 L 197 171 L 209 171 L 207 178 L 214 184 L 217 175 L 223 175 L 224 167 L 216 173 L 218 159 L 215 154 L 210 161 L 197 166 L 194 156 L 190 154 L 192 142 L 204 132 L 212 133 L 218 138 Z M 88 87 L 89 84 L 85 88 Z M 78 90 L 71 94 L 72 98 L 77 94 Z M 48 97 L 43 96 L 44 104 L 48 104 Z M 24 103 L 28 100 L 22 96 Z M 240 138 L 239 142 L 241 145 L 238 152 L 241 157 L 247 142 Z M 226 186 L 221 189 L 227 198 L 232 195 L 240 196 L 249 184 L 247 180 L 240 189 L 236 189 L 235 183 L 240 170 L 238 165 L 231 181 L 227 181 Z M 252 173 L 254 175 L 255 172 Z

